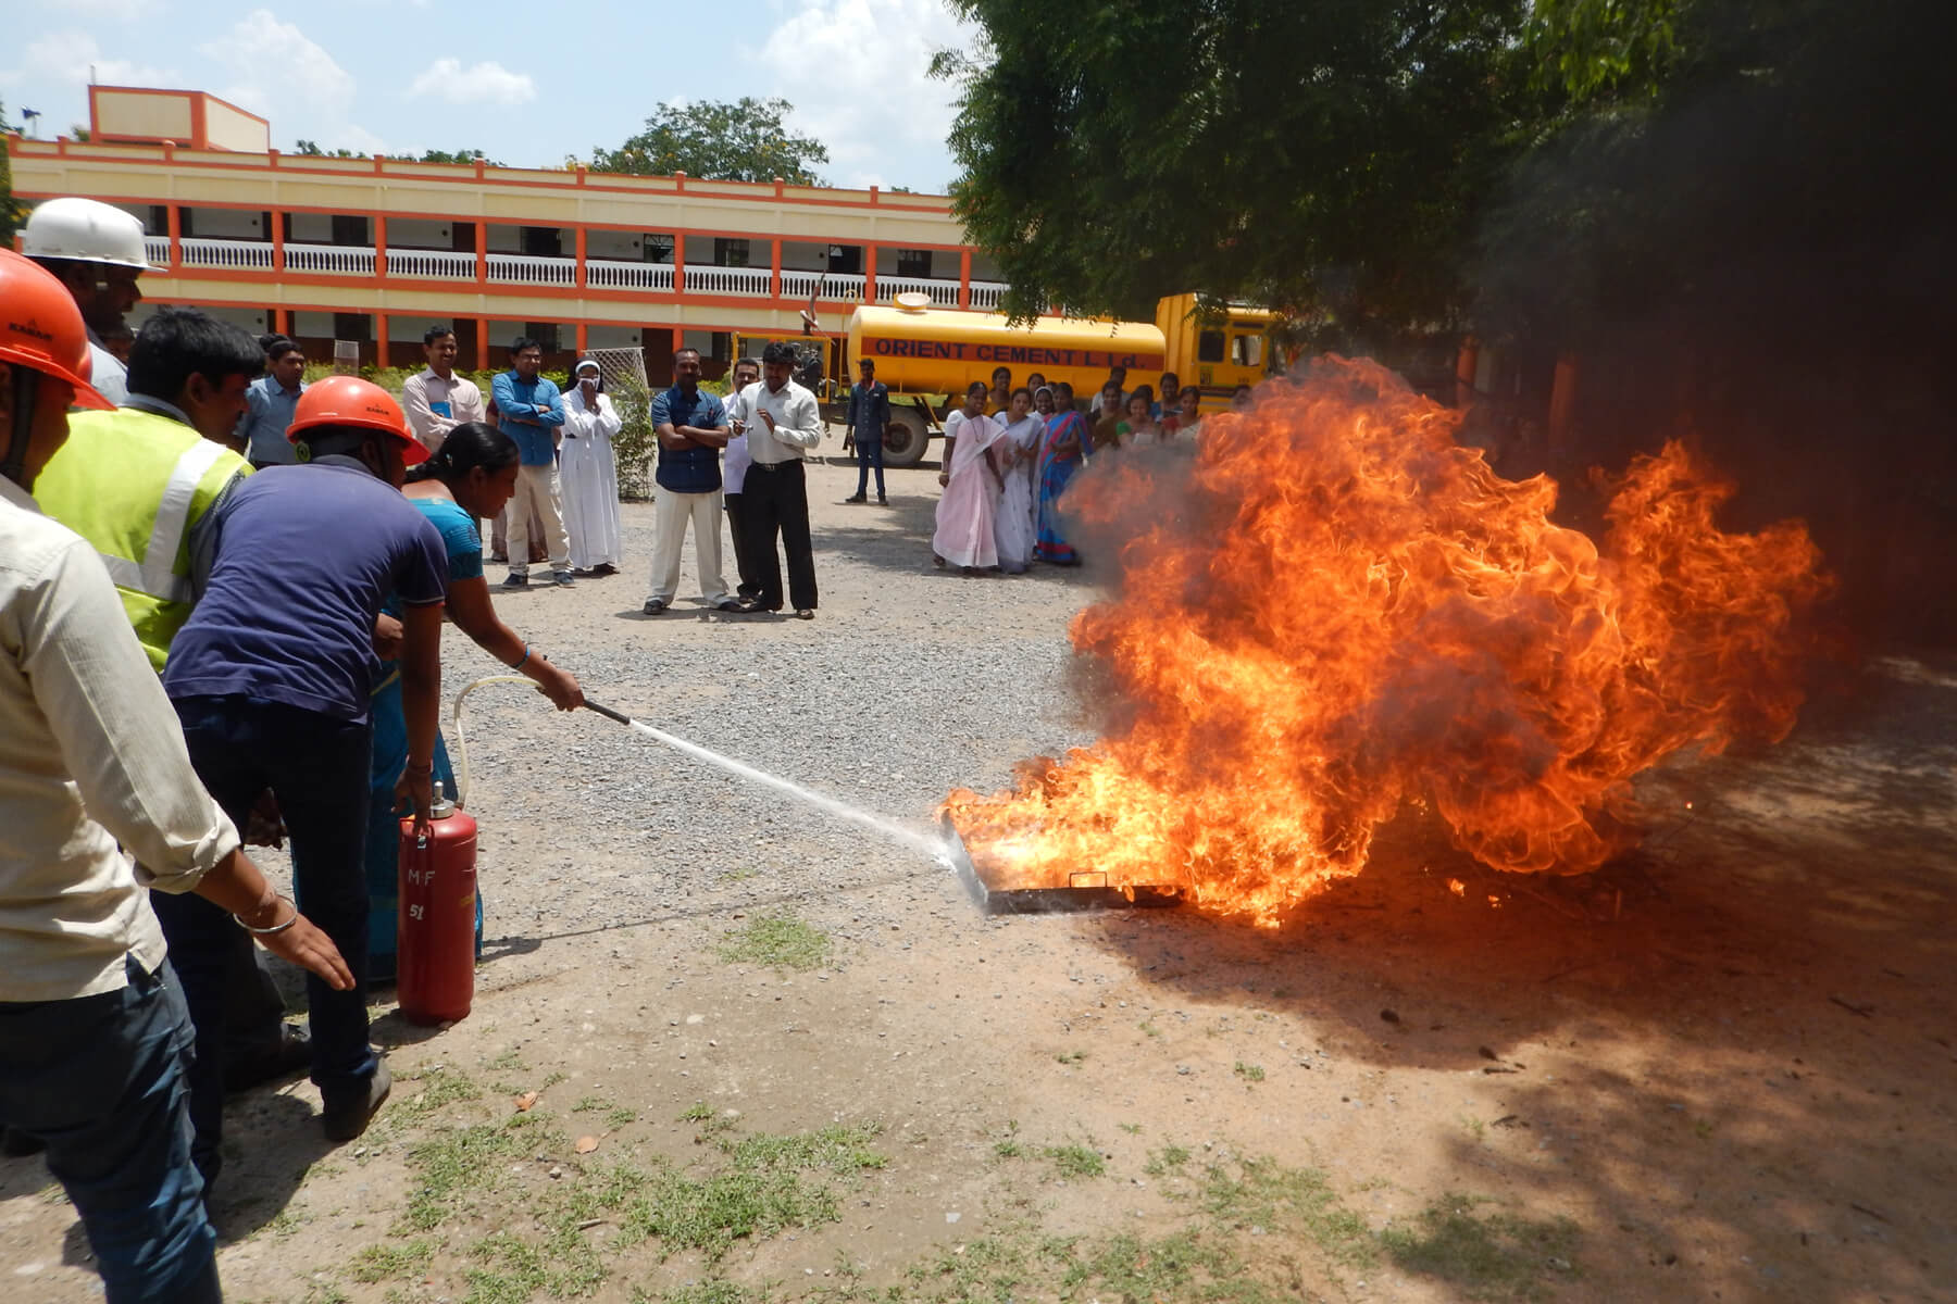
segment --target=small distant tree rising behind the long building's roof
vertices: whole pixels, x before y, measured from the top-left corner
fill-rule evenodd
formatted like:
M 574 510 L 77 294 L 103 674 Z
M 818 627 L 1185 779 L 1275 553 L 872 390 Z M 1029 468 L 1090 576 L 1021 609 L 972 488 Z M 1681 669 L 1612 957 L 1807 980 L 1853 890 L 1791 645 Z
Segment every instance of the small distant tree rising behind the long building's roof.
M 591 151 L 593 172 L 671 176 L 685 172 L 710 182 L 771 182 L 820 186 L 814 166 L 830 151 L 787 127 L 787 100 L 734 104 L 661 104 L 646 129 L 618 149 Z

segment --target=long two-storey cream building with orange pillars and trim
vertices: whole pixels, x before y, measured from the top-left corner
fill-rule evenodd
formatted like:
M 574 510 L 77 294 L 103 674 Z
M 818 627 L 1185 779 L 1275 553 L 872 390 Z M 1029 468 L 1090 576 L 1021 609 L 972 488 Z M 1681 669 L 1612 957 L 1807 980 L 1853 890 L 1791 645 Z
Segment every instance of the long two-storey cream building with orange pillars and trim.
M 1004 285 L 943 196 L 585 168 L 284 154 L 270 125 L 188 90 L 90 88 L 90 139 L 10 137 L 14 194 L 86 196 L 149 231 L 149 303 L 194 303 L 307 356 L 421 366 L 454 323 L 464 366 L 501 366 L 517 334 L 550 366 L 636 346 L 663 379 L 728 336 L 787 332 L 814 301 L 826 328 L 857 303 L 924 293 L 986 311 Z

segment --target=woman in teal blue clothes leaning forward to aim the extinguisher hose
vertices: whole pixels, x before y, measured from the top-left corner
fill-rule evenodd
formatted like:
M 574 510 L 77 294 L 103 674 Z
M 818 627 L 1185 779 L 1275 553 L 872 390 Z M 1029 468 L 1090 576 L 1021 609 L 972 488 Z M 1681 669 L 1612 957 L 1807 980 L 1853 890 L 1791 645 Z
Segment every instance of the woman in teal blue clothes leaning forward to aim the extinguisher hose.
M 472 420 L 442 440 L 440 452 L 409 473 L 401 491 L 442 534 L 448 551 L 448 618 L 503 665 L 536 680 L 536 688 L 560 712 L 585 704 L 585 694 L 568 671 L 550 665 L 523 637 L 505 626 L 489 604 L 483 579 L 483 540 L 476 522 L 495 516 L 517 491 L 517 442 L 501 430 Z M 401 714 L 401 674 L 391 661 L 382 663 L 380 686 L 370 708 L 374 719 L 374 770 L 368 815 L 368 976 L 387 981 L 395 972 L 395 909 L 399 903 L 399 821 L 393 813 L 393 778 L 407 761 L 407 721 Z M 456 772 L 448 749 L 434 739 L 434 778 L 456 794 Z M 481 936 L 481 895 L 476 903 L 476 931 Z

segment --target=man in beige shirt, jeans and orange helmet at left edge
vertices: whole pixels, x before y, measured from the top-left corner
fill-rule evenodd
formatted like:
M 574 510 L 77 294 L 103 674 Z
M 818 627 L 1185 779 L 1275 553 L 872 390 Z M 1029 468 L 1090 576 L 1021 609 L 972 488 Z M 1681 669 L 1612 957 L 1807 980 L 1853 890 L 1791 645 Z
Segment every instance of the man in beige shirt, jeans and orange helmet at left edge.
M 110 407 L 86 371 L 61 283 L 0 250 L 0 1116 L 47 1144 L 110 1304 L 215 1304 L 190 1015 L 147 888 L 196 891 L 329 985 L 354 979 L 204 792 L 102 559 L 23 489 L 70 405 Z

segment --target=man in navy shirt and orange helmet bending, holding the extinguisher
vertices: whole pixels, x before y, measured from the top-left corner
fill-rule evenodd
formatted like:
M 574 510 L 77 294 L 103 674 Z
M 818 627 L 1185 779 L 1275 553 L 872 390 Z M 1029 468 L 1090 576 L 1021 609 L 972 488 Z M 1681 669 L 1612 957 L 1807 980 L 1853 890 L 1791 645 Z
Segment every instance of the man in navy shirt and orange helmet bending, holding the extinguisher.
M 243 825 L 264 790 L 278 798 L 297 895 L 352 970 L 348 991 L 317 978 L 305 987 L 321 1122 L 329 1140 L 344 1142 L 360 1136 L 389 1087 L 366 1017 L 374 618 L 387 594 L 401 598 L 407 768 L 395 792 L 427 819 L 448 549 L 401 497 L 407 463 L 429 454 L 387 391 L 352 375 L 323 379 L 305 391 L 288 438 L 301 465 L 252 475 L 217 508 L 217 563 L 170 643 L 162 686 L 198 778 L 233 821 Z M 151 905 L 198 1028 L 192 1157 L 211 1179 L 237 925 L 202 897 L 157 893 Z

